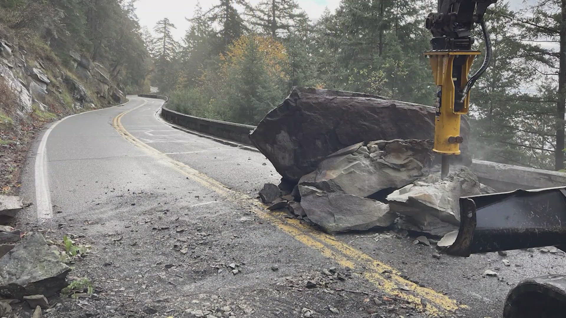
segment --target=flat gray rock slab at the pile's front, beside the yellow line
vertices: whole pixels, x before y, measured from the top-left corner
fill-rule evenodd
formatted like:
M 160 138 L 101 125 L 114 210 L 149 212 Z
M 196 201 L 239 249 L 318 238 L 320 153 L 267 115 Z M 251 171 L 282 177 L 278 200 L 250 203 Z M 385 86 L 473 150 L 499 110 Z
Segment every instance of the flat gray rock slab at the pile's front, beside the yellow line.
M 396 218 L 389 205 L 373 199 L 310 186 L 299 186 L 299 191 L 307 217 L 329 233 L 387 227 Z

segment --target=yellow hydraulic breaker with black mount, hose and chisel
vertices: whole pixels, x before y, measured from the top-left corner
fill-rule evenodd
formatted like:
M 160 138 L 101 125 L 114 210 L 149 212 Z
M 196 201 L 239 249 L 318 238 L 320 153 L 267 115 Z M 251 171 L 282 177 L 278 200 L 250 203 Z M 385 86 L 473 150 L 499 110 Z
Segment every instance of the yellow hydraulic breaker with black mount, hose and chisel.
M 468 113 L 469 92 L 491 59 L 491 44 L 483 22 L 486 8 L 497 0 L 439 0 L 438 12 L 430 13 L 425 27 L 432 33 L 430 58 L 436 92 L 436 121 L 433 151 L 441 154 L 441 177 L 449 172 L 449 158 L 460 154 L 460 116 Z M 482 66 L 468 79 L 471 63 L 480 51 L 471 50 L 471 31 L 480 24 L 486 42 Z

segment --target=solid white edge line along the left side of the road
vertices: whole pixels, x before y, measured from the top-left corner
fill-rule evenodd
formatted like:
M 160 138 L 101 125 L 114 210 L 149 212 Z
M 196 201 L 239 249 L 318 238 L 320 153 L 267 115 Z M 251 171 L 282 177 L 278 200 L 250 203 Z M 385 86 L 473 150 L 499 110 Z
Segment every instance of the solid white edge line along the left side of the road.
M 83 113 L 68 115 L 65 118 L 59 119 L 57 122 L 53 123 L 44 135 L 41 137 L 39 146 L 37 147 L 36 161 L 35 161 L 35 186 L 36 186 L 36 210 L 37 210 L 37 220 L 44 222 L 53 218 L 53 208 L 51 205 L 51 195 L 49 194 L 49 181 L 47 174 L 47 156 L 46 156 L 46 144 L 49 134 L 57 124 L 64 121 L 67 118 L 90 113 L 91 111 L 110 109 L 118 106 L 126 105 L 130 100 L 124 104 L 115 105 L 107 108 L 93 109 L 89 111 L 84 111 Z

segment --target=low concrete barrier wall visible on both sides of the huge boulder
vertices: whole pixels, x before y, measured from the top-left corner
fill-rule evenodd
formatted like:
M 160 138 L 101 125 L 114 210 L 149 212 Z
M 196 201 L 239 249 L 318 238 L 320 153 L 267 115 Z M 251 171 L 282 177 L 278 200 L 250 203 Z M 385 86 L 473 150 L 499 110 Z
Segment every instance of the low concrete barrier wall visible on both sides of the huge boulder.
M 255 126 L 246 124 L 215 121 L 213 119 L 185 115 L 167 108 L 162 108 L 161 116 L 169 122 L 190 130 L 247 145 L 251 144 L 248 135 L 255 128 Z M 512 191 L 519 188 L 527 190 L 566 185 L 566 173 L 558 171 L 504 165 L 483 160 L 474 160 L 471 169 L 478 175 L 481 183 L 497 191 Z

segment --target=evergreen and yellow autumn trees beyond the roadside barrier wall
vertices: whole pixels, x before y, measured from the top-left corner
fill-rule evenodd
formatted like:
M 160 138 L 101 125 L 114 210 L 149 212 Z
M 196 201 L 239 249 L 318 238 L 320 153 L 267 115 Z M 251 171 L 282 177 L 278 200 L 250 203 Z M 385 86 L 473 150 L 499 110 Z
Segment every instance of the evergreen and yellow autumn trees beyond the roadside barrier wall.
M 187 114 L 256 124 L 294 85 L 432 105 L 423 19 L 436 3 L 341 0 L 312 22 L 294 0 L 217 0 L 209 10 L 195 8 L 181 43 L 168 19 L 145 30 L 144 40 L 153 80 Z M 486 21 L 493 59 L 471 92 L 474 157 L 564 169 L 566 0 L 520 12 L 500 1 Z M 478 31 L 475 47 L 483 50 Z

